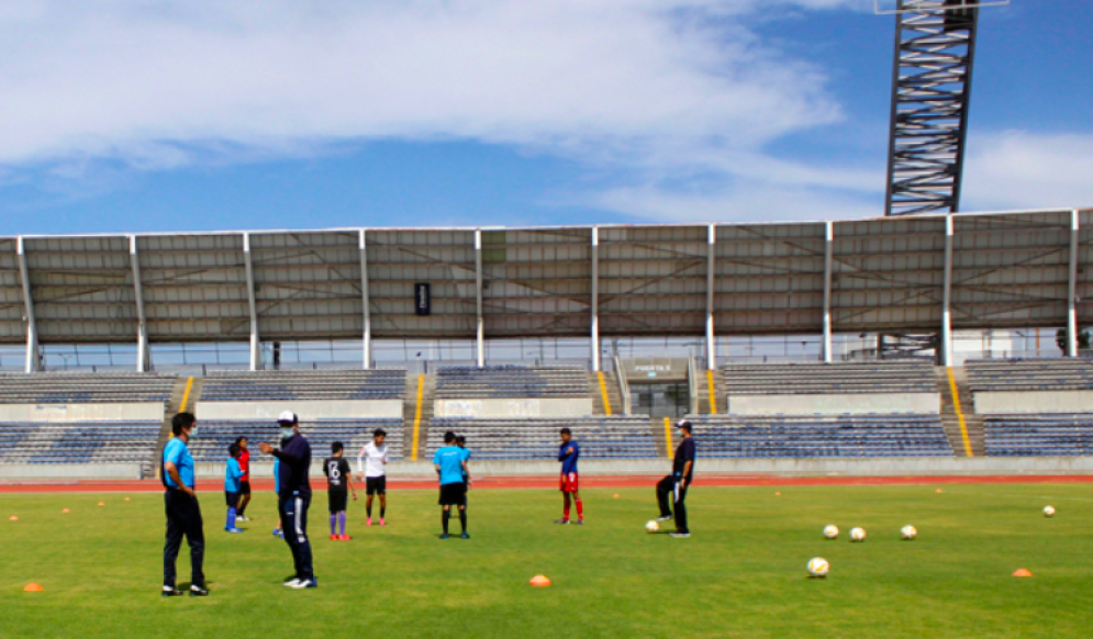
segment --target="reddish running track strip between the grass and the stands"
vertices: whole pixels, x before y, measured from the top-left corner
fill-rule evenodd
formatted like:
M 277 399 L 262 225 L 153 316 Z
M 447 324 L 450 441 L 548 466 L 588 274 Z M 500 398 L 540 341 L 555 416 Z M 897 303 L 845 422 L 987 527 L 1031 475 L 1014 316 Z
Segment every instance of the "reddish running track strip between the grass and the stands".
M 581 486 L 590 489 L 628 489 L 653 486 L 661 475 L 584 475 Z M 699 486 L 878 486 L 878 485 L 933 485 L 933 484 L 1031 484 L 1031 483 L 1093 483 L 1093 475 L 945 475 L 945 477 L 779 477 L 779 475 L 700 475 Z M 199 480 L 201 492 L 219 493 L 224 482 Z M 256 491 L 272 491 L 274 480 L 250 482 Z M 322 487 L 322 478 L 312 485 Z M 364 486 L 361 486 L 364 487 Z M 421 491 L 436 489 L 435 479 L 388 478 L 392 491 Z M 476 479 L 477 490 L 538 489 L 556 490 L 557 477 L 489 477 Z M 9 481 L 0 483 L 2 493 L 154 493 L 163 491 L 159 480 L 56 480 Z

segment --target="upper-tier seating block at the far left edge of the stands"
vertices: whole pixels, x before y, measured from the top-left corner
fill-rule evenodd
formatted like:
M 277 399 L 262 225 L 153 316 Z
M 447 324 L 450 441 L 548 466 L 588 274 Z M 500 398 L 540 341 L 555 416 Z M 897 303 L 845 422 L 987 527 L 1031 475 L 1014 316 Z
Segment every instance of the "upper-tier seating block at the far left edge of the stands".
M 109 373 L 0 373 L 0 404 L 166 402 L 175 375 Z

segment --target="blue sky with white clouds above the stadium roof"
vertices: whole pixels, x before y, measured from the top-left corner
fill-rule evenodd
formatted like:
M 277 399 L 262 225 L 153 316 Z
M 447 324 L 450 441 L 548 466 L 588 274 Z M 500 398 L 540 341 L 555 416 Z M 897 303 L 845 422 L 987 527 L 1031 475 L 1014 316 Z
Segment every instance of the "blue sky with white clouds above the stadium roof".
M 0 234 L 882 212 L 872 0 L 225 4 L 0 5 Z M 964 210 L 1093 205 L 1090 24 L 982 12 Z

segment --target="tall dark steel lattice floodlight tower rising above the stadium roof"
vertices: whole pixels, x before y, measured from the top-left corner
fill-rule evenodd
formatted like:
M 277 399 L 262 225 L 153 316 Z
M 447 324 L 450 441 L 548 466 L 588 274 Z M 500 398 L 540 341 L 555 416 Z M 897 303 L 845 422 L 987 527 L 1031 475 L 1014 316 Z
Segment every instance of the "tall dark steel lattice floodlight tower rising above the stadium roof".
M 894 13 L 885 215 L 956 213 L 979 9 L 1010 0 L 873 0 Z

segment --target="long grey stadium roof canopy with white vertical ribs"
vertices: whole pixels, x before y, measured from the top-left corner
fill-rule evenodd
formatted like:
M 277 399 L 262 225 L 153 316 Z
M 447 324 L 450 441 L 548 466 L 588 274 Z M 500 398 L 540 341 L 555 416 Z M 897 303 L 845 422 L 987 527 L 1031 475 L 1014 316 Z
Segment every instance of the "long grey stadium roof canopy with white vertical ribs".
M 275 340 L 823 333 L 829 344 L 833 332 L 1073 326 L 1093 311 L 1091 243 L 1093 210 L 0 237 L 0 344 L 143 354 L 149 341 L 249 340 L 255 358 Z M 427 315 L 416 283 L 430 284 Z

